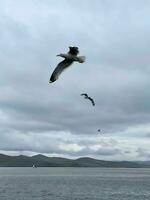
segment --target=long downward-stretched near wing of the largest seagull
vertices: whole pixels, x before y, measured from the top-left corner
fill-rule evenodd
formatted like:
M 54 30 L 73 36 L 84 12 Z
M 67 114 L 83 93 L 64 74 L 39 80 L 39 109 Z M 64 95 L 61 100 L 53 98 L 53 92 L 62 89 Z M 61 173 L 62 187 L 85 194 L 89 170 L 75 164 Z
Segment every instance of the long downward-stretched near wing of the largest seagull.
M 71 64 L 73 63 L 72 60 L 63 60 L 62 62 L 60 62 L 57 67 L 55 68 L 55 70 L 53 71 L 49 83 L 52 83 L 54 81 L 56 81 L 59 77 L 59 75 L 67 68 L 69 67 Z

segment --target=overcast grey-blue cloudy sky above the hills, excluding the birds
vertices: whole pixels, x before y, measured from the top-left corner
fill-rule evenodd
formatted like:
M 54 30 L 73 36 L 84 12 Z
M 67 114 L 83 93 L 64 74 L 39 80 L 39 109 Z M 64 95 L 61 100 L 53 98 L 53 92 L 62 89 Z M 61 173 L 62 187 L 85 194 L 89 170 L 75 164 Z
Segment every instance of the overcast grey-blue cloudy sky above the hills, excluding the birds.
M 150 160 L 149 0 L 1 0 L 0 69 L 0 153 Z

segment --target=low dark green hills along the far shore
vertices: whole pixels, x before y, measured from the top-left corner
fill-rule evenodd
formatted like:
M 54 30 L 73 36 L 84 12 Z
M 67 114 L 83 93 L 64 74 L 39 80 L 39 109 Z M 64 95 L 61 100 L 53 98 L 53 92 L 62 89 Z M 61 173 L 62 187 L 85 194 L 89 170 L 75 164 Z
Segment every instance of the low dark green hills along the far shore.
M 68 159 L 34 156 L 8 156 L 0 154 L 0 167 L 87 167 L 87 168 L 150 168 L 150 161 L 105 161 L 90 157 Z

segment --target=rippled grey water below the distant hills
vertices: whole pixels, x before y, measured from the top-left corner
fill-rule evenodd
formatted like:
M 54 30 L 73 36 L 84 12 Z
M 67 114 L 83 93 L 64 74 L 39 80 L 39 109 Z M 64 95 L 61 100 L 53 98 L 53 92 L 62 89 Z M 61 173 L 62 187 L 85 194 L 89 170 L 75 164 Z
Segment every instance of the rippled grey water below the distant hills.
M 0 200 L 150 200 L 150 169 L 0 168 Z

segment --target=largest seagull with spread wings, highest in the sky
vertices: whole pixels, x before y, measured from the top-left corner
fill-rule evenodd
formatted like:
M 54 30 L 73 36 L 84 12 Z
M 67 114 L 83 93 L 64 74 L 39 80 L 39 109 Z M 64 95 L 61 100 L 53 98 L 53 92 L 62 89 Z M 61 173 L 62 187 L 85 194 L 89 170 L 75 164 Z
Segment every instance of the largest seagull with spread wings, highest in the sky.
M 69 47 L 69 52 L 67 54 L 61 53 L 58 54 L 57 56 L 60 56 L 64 58 L 63 61 L 61 61 L 57 67 L 54 69 L 49 83 L 52 83 L 56 81 L 59 77 L 59 75 L 66 69 L 68 68 L 73 62 L 79 62 L 83 63 L 85 62 L 85 56 L 77 56 L 79 53 L 78 47 Z

